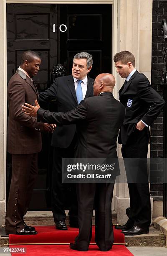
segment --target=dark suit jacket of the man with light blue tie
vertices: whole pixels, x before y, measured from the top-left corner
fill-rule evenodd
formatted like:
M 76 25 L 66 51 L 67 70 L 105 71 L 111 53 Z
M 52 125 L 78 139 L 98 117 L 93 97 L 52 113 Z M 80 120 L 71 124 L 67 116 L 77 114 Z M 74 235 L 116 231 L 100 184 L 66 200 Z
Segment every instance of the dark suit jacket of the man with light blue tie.
M 94 79 L 88 77 L 85 98 L 94 95 L 92 82 L 94 82 Z M 46 103 L 55 99 L 57 101 L 58 112 L 67 112 L 78 105 L 72 75 L 56 78 L 47 90 L 39 93 L 40 103 Z M 73 140 L 75 132 L 75 124 L 58 126 L 53 132 L 51 146 L 68 148 Z

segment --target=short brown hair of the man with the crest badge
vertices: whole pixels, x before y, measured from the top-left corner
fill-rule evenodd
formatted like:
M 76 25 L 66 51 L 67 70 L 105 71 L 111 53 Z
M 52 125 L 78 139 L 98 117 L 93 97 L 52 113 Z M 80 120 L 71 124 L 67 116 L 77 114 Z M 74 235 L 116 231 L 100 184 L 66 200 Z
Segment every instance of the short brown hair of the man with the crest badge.
M 123 64 L 131 62 L 133 67 L 135 67 L 135 58 L 130 51 L 120 51 L 114 55 L 114 62 L 121 61 Z

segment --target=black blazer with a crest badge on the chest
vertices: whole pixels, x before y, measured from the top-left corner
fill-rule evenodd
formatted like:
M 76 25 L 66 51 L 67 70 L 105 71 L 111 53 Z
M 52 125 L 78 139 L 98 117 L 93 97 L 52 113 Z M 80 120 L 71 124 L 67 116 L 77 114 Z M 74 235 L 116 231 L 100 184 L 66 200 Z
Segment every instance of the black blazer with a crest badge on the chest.
M 132 75 L 125 88 L 123 85 L 119 90 L 119 100 L 126 108 L 119 144 L 127 143 L 141 119 L 151 126 L 165 104 L 162 97 L 151 87 L 147 77 L 138 71 Z

